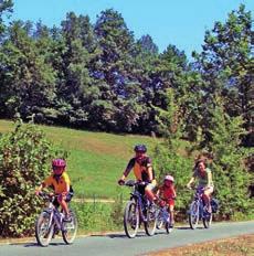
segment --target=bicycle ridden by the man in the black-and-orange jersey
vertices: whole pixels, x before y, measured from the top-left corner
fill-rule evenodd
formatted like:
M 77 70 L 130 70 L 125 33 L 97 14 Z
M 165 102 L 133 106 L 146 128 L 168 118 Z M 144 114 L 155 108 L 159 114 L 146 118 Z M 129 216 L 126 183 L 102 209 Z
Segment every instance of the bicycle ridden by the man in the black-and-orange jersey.
M 137 235 L 141 223 L 144 223 L 147 235 L 152 236 L 156 232 L 156 207 L 145 195 L 146 184 L 133 180 L 125 182 L 125 185 L 134 188 L 124 213 L 124 228 L 129 238 Z

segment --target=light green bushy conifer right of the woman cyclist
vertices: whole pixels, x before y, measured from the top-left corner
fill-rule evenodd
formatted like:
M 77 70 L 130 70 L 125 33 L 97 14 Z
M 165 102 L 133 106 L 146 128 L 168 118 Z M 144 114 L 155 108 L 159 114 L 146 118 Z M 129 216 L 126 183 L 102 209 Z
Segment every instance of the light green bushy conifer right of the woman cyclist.
M 253 201 L 248 196 L 252 179 L 243 161 L 251 152 L 241 147 L 241 136 L 246 132 L 242 128 L 243 118 L 230 117 L 222 100 L 216 98 L 216 103 L 208 150 L 213 156 L 212 171 L 220 213 L 223 218 L 230 220 L 253 213 Z

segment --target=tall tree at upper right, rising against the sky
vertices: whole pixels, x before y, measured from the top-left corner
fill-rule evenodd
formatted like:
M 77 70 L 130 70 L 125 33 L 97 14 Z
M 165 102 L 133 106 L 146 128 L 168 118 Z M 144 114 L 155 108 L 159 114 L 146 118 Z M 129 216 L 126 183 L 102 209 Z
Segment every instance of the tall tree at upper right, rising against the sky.
M 195 65 L 205 81 L 203 102 L 212 107 L 214 95 L 219 94 L 230 116 L 241 115 L 248 130 L 247 146 L 252 145 L 253 122 L 252 36 L 251 12 L 241 4 L 224 24 L 215 22 L 213 30 L 207 31 L 202 53 L 194 54 Z

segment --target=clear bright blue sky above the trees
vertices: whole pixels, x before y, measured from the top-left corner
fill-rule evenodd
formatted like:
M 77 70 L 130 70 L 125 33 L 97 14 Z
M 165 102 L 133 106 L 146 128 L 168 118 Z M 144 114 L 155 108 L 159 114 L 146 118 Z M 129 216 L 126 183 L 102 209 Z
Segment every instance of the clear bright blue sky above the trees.
M 139 39 L 151 35 L 162 52 L 169 44 L 184 51 L 200 52 L 205 30 L 244 3 L 254 15 L 254 0 L 13 0 L 13 19 L 41 20 L 60 26 L 66 13 L 87 14 L 92 23 L 100 11 L 113 8 L 121 13 L 129 30 Z

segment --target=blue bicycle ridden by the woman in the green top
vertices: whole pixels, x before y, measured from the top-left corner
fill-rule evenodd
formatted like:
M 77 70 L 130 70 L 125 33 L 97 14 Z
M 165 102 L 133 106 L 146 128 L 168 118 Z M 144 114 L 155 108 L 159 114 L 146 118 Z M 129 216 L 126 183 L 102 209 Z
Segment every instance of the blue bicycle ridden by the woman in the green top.
M 188 215 L 189 224 L 192 230 L 195 230 L 199 224 L 199 220 L 203 221 L 204 228 L 209 228 L 212 224 L 212 213 L 208 212 L 208 207 L 202 199 L 203 191 L 204 189 L 195 189 L 194 199 L 190 204 Z

